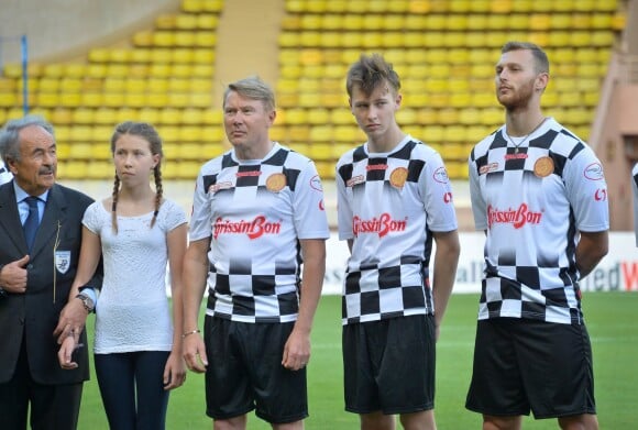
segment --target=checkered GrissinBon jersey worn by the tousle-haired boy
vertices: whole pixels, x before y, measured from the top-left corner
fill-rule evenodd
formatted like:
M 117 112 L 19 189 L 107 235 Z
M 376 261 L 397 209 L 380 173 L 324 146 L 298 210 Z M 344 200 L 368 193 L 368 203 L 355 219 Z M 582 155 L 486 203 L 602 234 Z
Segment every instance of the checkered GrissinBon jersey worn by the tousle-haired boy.
M 337 196 L 339 238 L 353 240 L 343 324 L 433 313 L 431 231 L 457 230 L 439 154 L 409 135 L 391 153 L 363 144 L 337 164 Z

